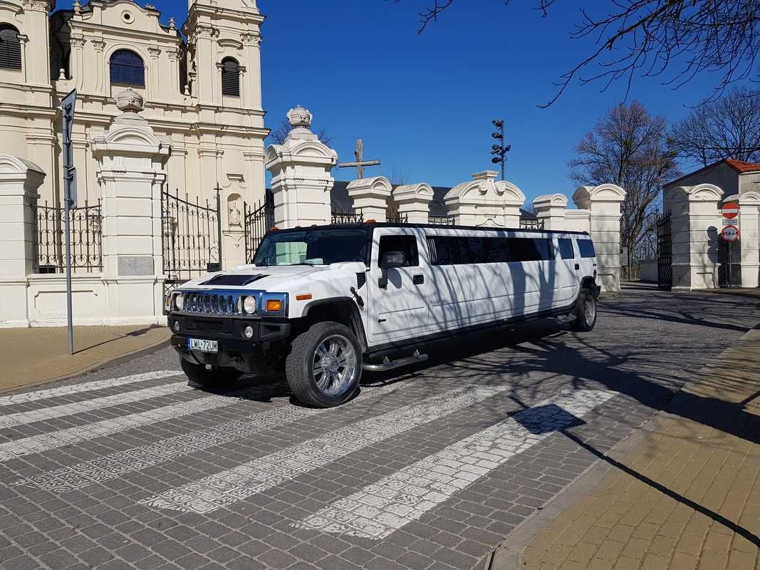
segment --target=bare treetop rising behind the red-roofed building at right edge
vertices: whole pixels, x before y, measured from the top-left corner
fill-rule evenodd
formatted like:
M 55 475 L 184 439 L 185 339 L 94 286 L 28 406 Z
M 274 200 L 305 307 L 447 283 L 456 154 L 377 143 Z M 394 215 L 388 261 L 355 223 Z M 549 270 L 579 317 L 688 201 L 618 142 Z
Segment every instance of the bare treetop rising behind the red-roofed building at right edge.
M 704 166 L 724 158 L 760 161 L 760 91 L 733 90 L 698 106 L 670 131 L 679 155 Z

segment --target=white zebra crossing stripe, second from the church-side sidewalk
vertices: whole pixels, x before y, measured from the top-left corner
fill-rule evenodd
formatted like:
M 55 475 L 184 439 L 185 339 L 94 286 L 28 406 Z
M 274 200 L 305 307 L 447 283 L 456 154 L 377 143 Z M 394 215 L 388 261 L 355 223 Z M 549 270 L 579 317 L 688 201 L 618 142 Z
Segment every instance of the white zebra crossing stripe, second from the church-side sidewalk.
M 93 397 L 90 400 L 74 402 L 73 404 L 61 404 L 60 406 L 43 407 L 38 410 L 29 410 L 27 412 L 10 413 L 8 416 L 0 416 L 0 429 L 13 426 L 23 426 L 27 423 L 43 422 L 52 420 L 57 417 L 73 416 L 75 413 L 91 412 L 93 410 L 103 410 L 110 406 L 119 406 L 121 404 L 131 404 L 142 400 L 149 400 L 152 397 L 166 396 L 176 394 L 176 392 L 192 390 L 185 382 L 172 382 L 152 388 L 143 388 L 122 394 L 112 394 L 110 396 Z

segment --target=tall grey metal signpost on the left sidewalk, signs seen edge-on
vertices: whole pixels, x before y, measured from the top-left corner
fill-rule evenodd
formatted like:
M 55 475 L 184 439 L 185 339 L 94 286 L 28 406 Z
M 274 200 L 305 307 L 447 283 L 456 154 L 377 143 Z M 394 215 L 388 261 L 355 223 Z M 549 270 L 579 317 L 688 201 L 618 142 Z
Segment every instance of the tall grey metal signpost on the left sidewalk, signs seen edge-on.
M 66 319 L 68 322 L 68 353 L 74 354 L 74 323 L 71 316 L 71 208 L 77 205 L 77 175 L 71 149 L 71 126 L 74 124 L 74 108 L 77 90 L 74 89 L 61 100 L 63 135 L 63 184 L 64 184 L 64 236 L 66 240 Z

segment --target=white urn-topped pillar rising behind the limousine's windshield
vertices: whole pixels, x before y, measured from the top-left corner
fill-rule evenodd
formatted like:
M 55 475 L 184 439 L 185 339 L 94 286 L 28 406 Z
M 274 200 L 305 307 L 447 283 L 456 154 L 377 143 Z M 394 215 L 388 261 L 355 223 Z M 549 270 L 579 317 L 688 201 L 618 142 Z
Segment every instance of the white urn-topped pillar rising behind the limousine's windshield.
M 266 166 L 272 173 L 274 224 L 281 228 L 331 221 L 330 171 L 337 153 L 309 131 L 312 114 L 298 106 L 287 114 L 293 130 L 283 144 L 271 144 Z

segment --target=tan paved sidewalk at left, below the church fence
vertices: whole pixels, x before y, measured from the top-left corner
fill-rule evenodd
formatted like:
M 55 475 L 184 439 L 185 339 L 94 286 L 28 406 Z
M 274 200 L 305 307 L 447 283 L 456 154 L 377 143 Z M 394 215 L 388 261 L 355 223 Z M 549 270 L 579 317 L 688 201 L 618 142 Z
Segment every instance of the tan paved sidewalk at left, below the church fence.
M 68 354 L 65 327 L 0 329 L 0 391 L 50 382 L 100 368 L 166 344 L 166 327 L 74 327 Z

